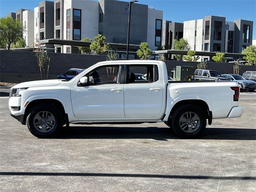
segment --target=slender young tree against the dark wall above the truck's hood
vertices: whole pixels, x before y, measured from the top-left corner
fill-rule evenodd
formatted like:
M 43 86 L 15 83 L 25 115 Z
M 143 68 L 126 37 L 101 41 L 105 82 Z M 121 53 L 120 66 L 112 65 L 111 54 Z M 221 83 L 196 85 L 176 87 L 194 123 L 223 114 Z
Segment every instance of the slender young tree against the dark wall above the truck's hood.
M 44 49 L 40 49 L 36 51 L 36 60 L 40 69 L 40 75 L 41 79 L 42 77 L 42 70 L 45 72 L 45 68 L 47 68 L 47 74 L 46 74 L 46 79 L 48 79 L 48 73 L 49 73 L 49 68 L 50 68 L 50 58 L 47 55 L 47 52 Z

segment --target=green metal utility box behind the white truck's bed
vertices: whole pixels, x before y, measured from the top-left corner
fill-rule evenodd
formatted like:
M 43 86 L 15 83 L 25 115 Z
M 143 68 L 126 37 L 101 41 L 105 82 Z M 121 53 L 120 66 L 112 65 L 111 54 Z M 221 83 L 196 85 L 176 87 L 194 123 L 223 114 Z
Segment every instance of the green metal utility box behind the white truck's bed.
M 176 81 L 194 80 L 194 66 L 176 66 L 174 71 L 174 80 Z

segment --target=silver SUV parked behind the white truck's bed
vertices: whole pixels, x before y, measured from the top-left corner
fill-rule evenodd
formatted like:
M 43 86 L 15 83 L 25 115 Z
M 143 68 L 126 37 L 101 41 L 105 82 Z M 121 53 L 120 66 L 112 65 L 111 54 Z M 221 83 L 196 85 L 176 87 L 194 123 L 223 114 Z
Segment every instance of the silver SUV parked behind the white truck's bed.
M 229 80 L 223 78 L 219 71 L 216 70 L 205 70 L 197 69 L 195 71 L 195 80 Z

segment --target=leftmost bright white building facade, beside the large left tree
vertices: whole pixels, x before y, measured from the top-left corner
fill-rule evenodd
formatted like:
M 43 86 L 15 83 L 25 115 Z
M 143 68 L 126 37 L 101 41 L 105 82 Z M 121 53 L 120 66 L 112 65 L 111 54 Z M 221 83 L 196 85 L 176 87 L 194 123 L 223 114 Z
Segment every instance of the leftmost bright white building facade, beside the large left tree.
M 26 46 L 32 47 L 34 42 L 34 11 L 23 11 L 22 23 L 24 26 L 23 38 L 26 41 Z

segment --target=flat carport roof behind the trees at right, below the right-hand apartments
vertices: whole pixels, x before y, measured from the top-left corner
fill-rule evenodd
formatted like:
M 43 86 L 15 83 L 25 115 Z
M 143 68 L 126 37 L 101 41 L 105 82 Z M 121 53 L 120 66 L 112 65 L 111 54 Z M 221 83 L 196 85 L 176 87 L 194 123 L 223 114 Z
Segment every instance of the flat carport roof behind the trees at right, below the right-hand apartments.
M 153 51 L 155 54 L 177 54 L 177 55 L 187 55 L 188 51 L 186 50 L 160 50 L 160 51 Z M 210 56 L 210 60 L 212 59 L 212 56 L 216 55 L 216 52 L 206 52 L 206 51 L 196 51 L 196 55 L 198 56 Z M 240 54 L 240 53 L 224 53 L 224 57 L 233 57 L 233 58 L 242 58 L 246 56 L 246 54 Z

